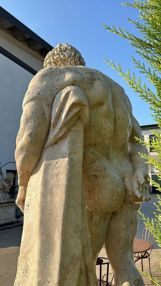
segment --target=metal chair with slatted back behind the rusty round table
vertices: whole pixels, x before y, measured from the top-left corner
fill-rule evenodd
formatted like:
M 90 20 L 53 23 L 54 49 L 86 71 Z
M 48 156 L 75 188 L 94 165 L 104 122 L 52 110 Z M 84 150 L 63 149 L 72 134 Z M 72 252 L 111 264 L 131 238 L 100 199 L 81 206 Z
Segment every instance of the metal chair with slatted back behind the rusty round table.
M 149 270 L 150 270 L 150 276 L 152 277 L 152 273 L 151 273 L 151 269 L 150 269 L 150 253 L 152 251 L 152 247 L 154 244 L 154 235 L 152 235 L 152 233 L 150 232 L 149 229 L 147 229 L 147 227 L 145 227 L 143 229 L 143 233 L 142 233 L 142 240 L 150 243 L 150 249 L 148 249 L 148 251 L 145 251 L 144 249 L 142 249 L 142 252 L 138 252 L 138 253 L 134 253 L 134 263 L 136 263 L 136 261 L 140 260 L 142 261 L 142 271 L 144 271 L 143 269 L 143 259 L 148 258 L 149 259 Z M 152 281 L 153 283 L 153 281 Z

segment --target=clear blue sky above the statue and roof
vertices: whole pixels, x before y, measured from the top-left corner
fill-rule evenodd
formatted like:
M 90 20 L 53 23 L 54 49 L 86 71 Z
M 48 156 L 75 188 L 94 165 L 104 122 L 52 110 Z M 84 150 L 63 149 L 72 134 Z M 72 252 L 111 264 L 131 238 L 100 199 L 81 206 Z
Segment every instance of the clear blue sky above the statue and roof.
M 138 75 L 131 59 L 131 55 L 136 57 L 134 48 L 126 39 L 107 32 L 102 25 L 119 25 L 137 34 L 136 28 L 126 18 L 138 19 L 138 10 L 124 7 L 121 3 L 121 0 L 0 0 L 5 10 L 53 47 L 59 43 L 70 43 L 76 47 L 86 66 L 98 69 L 123 86 L 140 125 L 155 124 L 149 105 L 103 60 L 119 62 L 124 72 L 129 68 Z

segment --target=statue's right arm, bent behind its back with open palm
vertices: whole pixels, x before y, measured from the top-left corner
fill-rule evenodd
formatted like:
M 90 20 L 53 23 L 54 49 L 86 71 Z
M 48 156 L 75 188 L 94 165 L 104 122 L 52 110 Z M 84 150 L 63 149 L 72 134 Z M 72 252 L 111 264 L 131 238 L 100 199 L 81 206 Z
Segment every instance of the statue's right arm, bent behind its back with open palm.
M 136 141 L 135 137 L 141 138 L 142 132 L 138 121 L 133 117 L 132 119 L 132 130 L 129 137 L 129 159 L 133 163 L 134 173 L 132 177 L 132 188 L 135 195 L 144 200 L 148 201 L 151 199 L 148 188 L 150 177 L 148 174 L 148 164 L 145 163 L 145 159 L 140 157 L 140 154 L 143 153 L 148 155 L 147 148 Z

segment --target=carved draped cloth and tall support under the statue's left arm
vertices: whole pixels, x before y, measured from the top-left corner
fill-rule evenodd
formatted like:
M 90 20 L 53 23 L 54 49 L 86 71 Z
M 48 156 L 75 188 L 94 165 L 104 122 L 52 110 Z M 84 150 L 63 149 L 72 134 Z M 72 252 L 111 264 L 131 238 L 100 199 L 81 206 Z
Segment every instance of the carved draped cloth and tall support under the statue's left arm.
M 40 160 L 28 182 L 14 286 L 97 285 L 82 175 L 88 126 L 89 105 L 83 90 L 77 86 L 61 90 L 54 99 Z

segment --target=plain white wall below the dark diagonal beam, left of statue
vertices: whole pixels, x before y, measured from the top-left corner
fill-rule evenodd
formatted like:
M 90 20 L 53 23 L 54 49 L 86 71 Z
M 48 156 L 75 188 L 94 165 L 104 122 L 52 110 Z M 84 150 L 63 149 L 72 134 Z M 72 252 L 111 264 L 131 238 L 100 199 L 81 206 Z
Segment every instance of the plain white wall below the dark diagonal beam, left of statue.
M 22 114 L 22 101 L 33 75 L 0 54 L 0 161 L 15 161 L 15 140 Z M 16 164 L 2 168 L 16 170 Z

